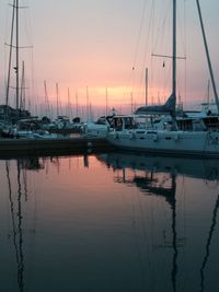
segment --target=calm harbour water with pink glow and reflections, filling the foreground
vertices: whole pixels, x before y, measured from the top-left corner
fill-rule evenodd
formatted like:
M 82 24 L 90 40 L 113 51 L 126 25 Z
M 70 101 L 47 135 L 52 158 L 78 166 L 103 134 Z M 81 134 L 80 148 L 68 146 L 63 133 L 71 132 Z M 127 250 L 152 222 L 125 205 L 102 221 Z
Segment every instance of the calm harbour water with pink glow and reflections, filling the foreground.
M 111 153 L 0 170 L 0 291 L 219 291 L 219 161 Z

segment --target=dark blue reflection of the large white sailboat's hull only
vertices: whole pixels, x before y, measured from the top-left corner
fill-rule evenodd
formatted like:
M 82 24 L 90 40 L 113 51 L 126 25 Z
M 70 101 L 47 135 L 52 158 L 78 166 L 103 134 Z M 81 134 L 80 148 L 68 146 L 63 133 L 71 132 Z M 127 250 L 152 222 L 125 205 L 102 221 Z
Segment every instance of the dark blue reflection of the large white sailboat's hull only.
M 172 173 L 208 180 L 219 179 L 219 160 L 173 156 L 149 156 L 142 153 L 112 152 L 99 160 L 114 170 L 130 168 L 153 173 Z

